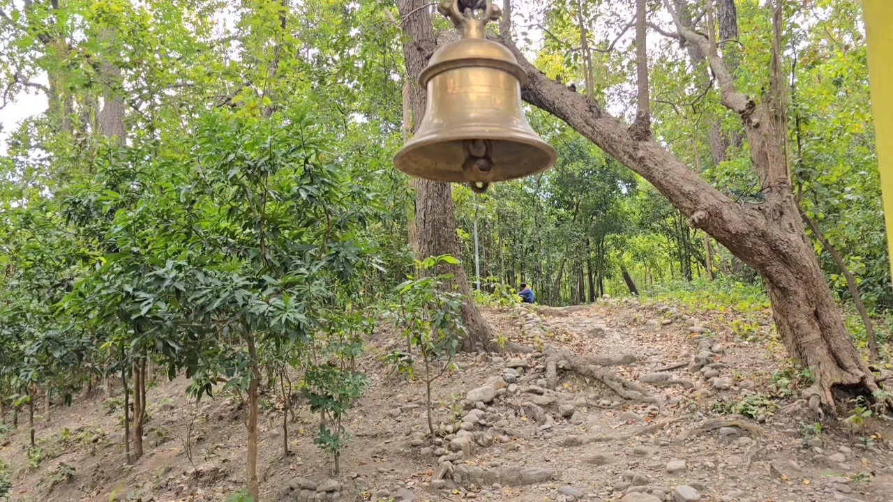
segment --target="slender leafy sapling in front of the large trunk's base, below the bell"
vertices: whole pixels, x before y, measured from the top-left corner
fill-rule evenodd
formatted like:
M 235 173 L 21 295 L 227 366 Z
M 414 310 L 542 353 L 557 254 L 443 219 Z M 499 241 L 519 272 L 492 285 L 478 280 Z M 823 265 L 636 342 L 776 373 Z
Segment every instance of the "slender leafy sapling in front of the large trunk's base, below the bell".
M 440 255 L 417 262 L 421 277 L 410 276 L 397 286 L 400 304 L 392 315 L 396 327 L 406 338 L 410 354 L 413 349 L 417 350 L 424 364 L 425 404 L 432 439 L 431 383 L 447 372 L 466 333 L 462 294 L 448 287 L 453 274 L 434 272 L 439 264 L 459 264 L 459 260 L 451 255 Z M 437 367 L 432 367 L 435 361 L 438 361 Z

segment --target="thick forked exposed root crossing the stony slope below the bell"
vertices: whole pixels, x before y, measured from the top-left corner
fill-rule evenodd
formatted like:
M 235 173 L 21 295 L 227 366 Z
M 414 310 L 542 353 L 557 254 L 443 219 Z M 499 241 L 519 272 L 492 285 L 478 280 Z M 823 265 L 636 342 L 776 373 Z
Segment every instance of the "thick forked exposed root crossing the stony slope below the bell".
M 638 384 L 623 379 L 615 372 L 611 372 L 600 366 L 617 365 L 618 358 L 599 357 L 599 356 L 576 356 L 567 348 L 557 349 L 555 347 L 547 347 L 546 349 L 546 384 L 549 389 L 555 390 L 558 384 L 558 368 L 564 371 L 575 372 L 582 377 L 590 378 L 605 385 L 608 389 L 613 390 L 615 394 L 633 401 L 646 403 L 655 403 L 657 400 L 652 397 L 648 391 Z M 631 356 L 635 358 L 635 356 Z

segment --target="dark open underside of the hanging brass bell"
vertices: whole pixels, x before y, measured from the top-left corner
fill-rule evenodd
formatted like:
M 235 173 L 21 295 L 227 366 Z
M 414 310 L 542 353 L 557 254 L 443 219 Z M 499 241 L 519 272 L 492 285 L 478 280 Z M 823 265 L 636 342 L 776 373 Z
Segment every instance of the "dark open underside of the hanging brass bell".
M 545 141 L 484 135 L 476 138 L 488 140 L 488 166 L 470 158 L 465 138 L 421 138 L 397 152 L 395 167 L 426 180 L 493 183 L 547 171 L 558 159 L 555 148 Z

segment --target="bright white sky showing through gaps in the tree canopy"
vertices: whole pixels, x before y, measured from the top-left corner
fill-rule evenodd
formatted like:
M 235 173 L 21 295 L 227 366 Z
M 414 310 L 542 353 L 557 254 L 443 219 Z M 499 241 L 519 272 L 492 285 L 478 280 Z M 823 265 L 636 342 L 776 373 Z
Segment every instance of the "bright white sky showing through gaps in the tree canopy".
M 538 13 L 541 12 L 543 4 L 544 0 L 516 0 L 513 3 L 513 25 L 519 31 L 521 31 L 522 29 L 527 31 L 527 38 L 530 39 L 530 45 L 522 46 L 522 49 L 524 49 L 524 51 L 529 54 L 535 51 L 542 44 L 542 30 L 538 29 L 535 26 L 531 26 L 531 22 L 539 20 L 531 20 L 530 15 L 532 14 L 533 17 L 538 18 Z M 629 8 L 625 4 L 623 5 L 623 7 Z M 224 18 L 230 18 L 230 16 L 232 15 L 234 15 L 234 13 L 224 14 Z M 231 27 L 234 18 L 221 19 L 220 21 Z M 593 29 L 597 30 L 597 28 Z M 630 30 L 627 33 L 626 37 L 631 37 L 633 33 L 634 30 Z M 613 35 L 611 35 L 611 37 L 613 37 Z M 656 40 L 657 38 L 660 37 L 649 37 L 648 45 L 656 45 L 658 41 Z M 598 38 L 596 39 L 596 42 L 597 41 Z M 519 45 L 522 44 L 523 42 L 519 41 Z M 530 54 L 530 56 L 532 55 L 533 54 Z M 39 78 L 34 80 L 38 83 L 46 85 L 46 75 L 41 75 Z M 17 130 L 22 121 L 46 112 L 46 106 L 46 95 L 34 88 L 26 88 L 18 95 L 12 97 L 12 102 L 6 105 L 2 110 L 0 110 L 0 155 L 6 154 L 7 138 L 9 137 L 10 133 L 14 130 Z M 611 110 L 611 107 L 609 107 L 609 111 L 615 113 L 617 112 Z

